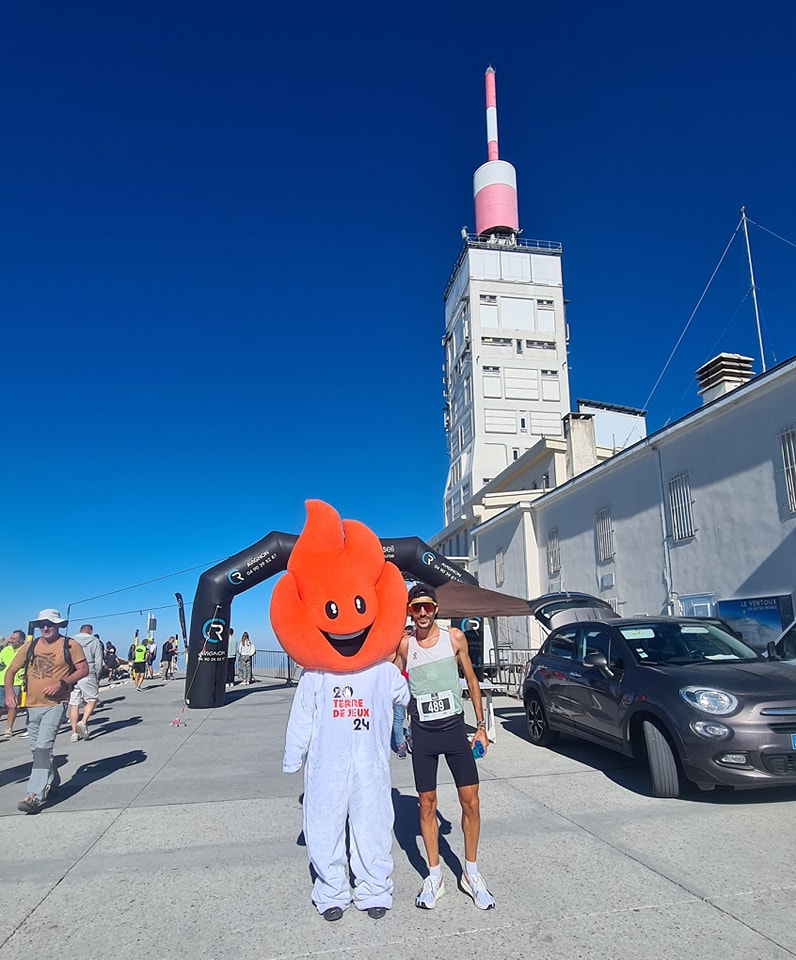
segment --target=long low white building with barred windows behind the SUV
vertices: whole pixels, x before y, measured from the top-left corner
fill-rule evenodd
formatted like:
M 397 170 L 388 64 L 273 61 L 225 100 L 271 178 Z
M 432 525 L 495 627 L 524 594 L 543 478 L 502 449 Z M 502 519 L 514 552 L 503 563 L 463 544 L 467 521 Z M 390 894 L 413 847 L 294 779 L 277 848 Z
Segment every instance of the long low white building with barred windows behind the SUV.
M 740 386 L 732 370 L 722 376 L 737 359 L 702 368 L 700 409 L 603 462 L 595 445 L 594 466 L 554 489 L 506 491 L 500 510 L 483 491 L 469 558 L 481 585 L 528 598 L 583 591 L 628 616 L 728 616 L 722 605 L 776 599 L 792 617 L 796 358 Z M 769 636 L 749 619 L 760 645 Z M 515 647 L 540 639 L 516 618 L 498 634 Z

